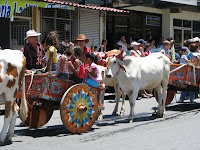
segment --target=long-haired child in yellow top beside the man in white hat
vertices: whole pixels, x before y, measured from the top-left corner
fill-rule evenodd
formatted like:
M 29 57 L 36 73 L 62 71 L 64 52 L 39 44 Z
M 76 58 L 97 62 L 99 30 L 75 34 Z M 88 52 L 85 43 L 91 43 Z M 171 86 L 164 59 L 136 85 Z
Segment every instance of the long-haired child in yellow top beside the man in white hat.
M 58 42 L 58 34 L 56 31 L 51 31 L 46 38 L 46 53 L 47 53 L 47 70 L 53 71 L 52 73 L 55 73 L 58 58 L 57 58 L 57 48 L 59 46 Z

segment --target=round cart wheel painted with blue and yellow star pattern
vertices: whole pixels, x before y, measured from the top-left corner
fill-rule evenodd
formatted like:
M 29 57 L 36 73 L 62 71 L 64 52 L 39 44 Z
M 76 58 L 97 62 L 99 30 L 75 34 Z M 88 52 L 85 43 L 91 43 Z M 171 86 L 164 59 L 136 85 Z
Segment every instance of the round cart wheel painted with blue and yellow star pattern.
M 98 114 L 98 101 L 93 90 L 85 84 L 76 84 L 63 95 L 60 115 L 69 131 L 84 133 L 94 124 Z

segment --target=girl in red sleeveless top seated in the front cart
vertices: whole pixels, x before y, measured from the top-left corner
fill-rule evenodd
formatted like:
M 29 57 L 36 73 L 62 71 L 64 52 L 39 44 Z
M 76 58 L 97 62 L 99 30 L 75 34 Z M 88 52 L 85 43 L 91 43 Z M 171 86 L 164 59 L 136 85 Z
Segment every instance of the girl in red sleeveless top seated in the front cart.
M 85 78 L 85 66 L 82 62 L 82 53 L 79 47 L 74 48 L 73 57 L 75 59 L 74 63 L 69 61 L 69 68 L 73 74 L 70 75 L 70 80 L 75 83 L 83 83 Z

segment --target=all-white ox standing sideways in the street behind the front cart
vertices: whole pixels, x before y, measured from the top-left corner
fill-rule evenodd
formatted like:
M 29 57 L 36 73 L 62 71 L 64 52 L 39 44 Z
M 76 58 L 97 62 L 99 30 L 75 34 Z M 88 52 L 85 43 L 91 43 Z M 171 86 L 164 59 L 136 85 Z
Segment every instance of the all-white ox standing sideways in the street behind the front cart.
M 139 90 L 155 88 L 158 95 L 157 115 L 163 117 L 170 72 L 170 60 L 161 53 L 147 57 L 126 56 L 113 58 L 107 77 L 116 77 L 120 88 L 129 96 L 130 122 L 133 121 L 134 106 Z

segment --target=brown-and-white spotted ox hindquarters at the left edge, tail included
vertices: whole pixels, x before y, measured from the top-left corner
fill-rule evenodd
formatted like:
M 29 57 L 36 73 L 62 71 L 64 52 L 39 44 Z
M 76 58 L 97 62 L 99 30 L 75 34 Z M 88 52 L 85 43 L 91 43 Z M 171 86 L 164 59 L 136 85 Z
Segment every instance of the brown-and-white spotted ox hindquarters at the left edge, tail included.
M 20 117 L 25 122 L 28 107 L 25 99 L 25 67 L 26 58 L 19 50 L 0 51 L 0 95 L 5 100 L 4 125 L 0 134 L 0 145 L 11 142 L 14 134 L 17 117 L 17 92 L 22 86 L 22 100 L 20 105 Z

